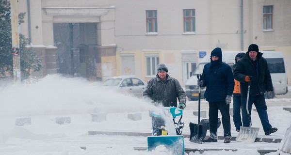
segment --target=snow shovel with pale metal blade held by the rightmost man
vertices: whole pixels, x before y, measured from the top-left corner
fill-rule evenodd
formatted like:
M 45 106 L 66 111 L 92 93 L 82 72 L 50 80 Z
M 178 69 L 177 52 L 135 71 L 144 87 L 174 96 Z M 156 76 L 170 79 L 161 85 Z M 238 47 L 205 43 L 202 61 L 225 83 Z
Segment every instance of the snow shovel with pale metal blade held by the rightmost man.
M 250 78 L 252 78 L 250 76 Z M 235 139 L 236 141 L 241 142 L 255 142 L 258 134 L 259 134 L 259 127 L 252 127 L 252 121 L 251 121 L 251 115 L 249 113 L 248 109 L 248 101 L 249 101 L 249 95 L 250 95 L 250 87 L 251 87 L 251 81 L 248 82 L 248 88 L 247 88 L 247 97 L 246 97 L 246 112 L 247 116 L 250 122 L 250 126 L 241 126 L 240 132 Z

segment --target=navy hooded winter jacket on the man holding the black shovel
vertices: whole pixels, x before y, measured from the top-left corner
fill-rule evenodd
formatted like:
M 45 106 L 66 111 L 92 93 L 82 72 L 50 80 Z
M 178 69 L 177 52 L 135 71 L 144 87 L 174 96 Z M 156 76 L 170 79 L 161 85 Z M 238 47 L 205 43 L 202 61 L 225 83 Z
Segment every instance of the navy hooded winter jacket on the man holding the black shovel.
M 211 60 L 204 66 L 201 79 L 203 86 L 206 86 L 204 97 L 208 102 L 225 101 L 226 95 L 232 95 L 234 89 L 234 78 L 231 67 L 222 62 L 222 52 L 220 48 L 215 48 L 211 56 L 218 56 L 218 62 Z

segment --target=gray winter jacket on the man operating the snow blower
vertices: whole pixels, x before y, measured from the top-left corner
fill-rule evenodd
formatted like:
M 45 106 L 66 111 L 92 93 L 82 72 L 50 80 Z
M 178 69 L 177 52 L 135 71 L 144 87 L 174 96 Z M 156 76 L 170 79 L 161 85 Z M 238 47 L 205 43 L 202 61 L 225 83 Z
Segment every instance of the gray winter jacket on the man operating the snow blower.
M 151 78 L 143 92 L 144 99 L 162 104 L 163 107 L 177 107 L 177 97 L 179 103 L 186 105 L 185 91 L 179 81 L 171 78 L 168 74 L 165 81 L 162 81 L 158 75 L 155 78 Z

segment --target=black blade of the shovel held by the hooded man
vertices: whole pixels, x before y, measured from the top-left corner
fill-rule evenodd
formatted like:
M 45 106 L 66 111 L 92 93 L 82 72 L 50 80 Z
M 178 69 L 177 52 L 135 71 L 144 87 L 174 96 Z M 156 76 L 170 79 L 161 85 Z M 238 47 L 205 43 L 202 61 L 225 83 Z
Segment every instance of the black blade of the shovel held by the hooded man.
M 190 122 L 190 141 L 201 144 L 206 136 L 207 129 L 202 124 Z

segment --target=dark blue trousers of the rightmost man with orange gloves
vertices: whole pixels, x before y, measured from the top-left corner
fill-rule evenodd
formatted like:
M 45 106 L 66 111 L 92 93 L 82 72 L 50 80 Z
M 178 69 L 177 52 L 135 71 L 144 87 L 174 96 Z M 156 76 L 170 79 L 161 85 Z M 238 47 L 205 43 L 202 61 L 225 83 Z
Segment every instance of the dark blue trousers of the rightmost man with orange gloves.
M 250 126 L 250 122 L 249 122 L 247 111 L 246 111 L 246 97 L 247 96 L 242 96 L 242 124 L 243 126 Z M 265 101 L 265 95 L 249 96 L 248 110 L 249 110 L 250 116 L 251 116 L 253 104 L 256 106 L 256 109 L 258 111 L 259 119 L 263 126 L 264 132 L 268 131 L 269 129 L 272 128 L 272 125 L 269 123 L 269 118 L 268 118 L 268 113 L 267 113 L 268 108 Z

